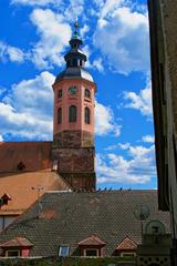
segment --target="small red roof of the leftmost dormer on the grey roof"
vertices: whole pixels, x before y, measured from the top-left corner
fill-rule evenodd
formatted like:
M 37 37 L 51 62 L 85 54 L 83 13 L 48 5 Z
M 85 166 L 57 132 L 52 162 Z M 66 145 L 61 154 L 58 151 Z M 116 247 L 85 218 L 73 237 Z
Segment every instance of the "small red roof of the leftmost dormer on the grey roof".
M 15 237 L 13 239 L 10 239 L 6 243 L 2 243 L 0 247 L 30 247 L 33 246 L 33 244 L 23 237 Z

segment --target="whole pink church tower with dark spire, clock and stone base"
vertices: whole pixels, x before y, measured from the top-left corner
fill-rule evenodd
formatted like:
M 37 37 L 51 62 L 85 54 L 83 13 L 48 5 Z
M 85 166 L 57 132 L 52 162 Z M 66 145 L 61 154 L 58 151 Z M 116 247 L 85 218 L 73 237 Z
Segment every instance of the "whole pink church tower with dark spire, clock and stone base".
M 84 69 L 86 55 L 77 34 L 70 40 L 71 49 L 64 55 L 66 68 L 53 84 L 53 161 L 59 174 L 73 188 L 95 188 L 94 170 L 94 94 L 96 85 Z

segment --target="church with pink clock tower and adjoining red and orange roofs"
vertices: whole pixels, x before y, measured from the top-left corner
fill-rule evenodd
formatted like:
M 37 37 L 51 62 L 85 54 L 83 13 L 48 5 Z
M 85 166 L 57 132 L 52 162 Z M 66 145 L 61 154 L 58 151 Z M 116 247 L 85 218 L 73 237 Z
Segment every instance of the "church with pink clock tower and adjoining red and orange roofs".
M 45 191 L 91 191 L 94 168 L 94 95 L 96 85 L 84 69 L 77 22 L 65 54 L 65 70 L 53 84 L 53 142 L 0 143 L 0 231 Z M 52 88 L 51 88 L 52 90 Z

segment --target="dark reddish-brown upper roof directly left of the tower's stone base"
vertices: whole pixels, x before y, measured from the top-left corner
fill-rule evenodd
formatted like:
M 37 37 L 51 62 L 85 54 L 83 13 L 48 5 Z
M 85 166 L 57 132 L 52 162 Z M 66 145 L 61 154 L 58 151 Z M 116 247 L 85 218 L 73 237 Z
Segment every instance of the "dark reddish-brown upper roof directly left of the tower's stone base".
M 0 173 L 17 173 L 18 165 L 24 165 L 23 171 L 51 168 L 52 142 L 1 142 Z

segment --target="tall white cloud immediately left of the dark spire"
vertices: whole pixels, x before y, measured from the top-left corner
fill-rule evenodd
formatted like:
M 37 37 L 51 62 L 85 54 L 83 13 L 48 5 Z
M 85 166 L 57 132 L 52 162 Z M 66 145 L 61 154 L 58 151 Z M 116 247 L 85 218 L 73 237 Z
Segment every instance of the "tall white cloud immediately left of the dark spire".
M 32 51 L 34 64 L 41 69 L 61 65 L 62 52 L 71 39 L 71 28 L 64 17 L 50 9 L 34 9 L 30 18 L 40 35 Z

